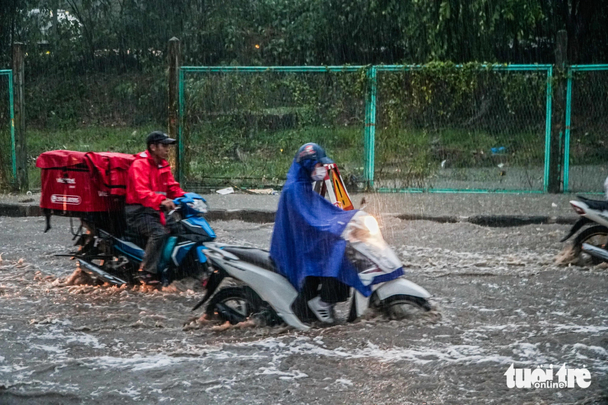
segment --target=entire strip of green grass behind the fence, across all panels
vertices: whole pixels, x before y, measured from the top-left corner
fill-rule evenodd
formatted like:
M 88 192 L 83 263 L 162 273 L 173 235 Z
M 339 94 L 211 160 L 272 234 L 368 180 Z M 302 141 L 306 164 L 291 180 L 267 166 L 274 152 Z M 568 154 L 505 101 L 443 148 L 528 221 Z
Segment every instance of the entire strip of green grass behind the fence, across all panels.
M 49 150 L 116 151 L 137 153 L 145 148 L 145 136 L 161 125 L 88 127 L 74 130 L 29 130 L 30 188 L 40 187 L 36 157 Z M 198 125 L 185 131 L 187 182 L 190 185 L 247 187 L 281 185 L 294 153 L 305 142 L 326 148 L 339 164 L 345 181 L 362 180 L 364 150 L 362 128 L 308 126 L 289 130 L 244 133 L 230 126 Z M 500 154 L 491 148 L 505 147 Z M 466 130 L 376 131 L 376 179 L 399 179 L 407 187 L 425 187 L 437 176 L 441 162 L 465 168 L 533 167 L 542 165 L 544 136 L 533 131 L 491 134 Z M 9 162 L 5 162 L 8 166 Z M 464 178 L 463 178 L 464 180 Z

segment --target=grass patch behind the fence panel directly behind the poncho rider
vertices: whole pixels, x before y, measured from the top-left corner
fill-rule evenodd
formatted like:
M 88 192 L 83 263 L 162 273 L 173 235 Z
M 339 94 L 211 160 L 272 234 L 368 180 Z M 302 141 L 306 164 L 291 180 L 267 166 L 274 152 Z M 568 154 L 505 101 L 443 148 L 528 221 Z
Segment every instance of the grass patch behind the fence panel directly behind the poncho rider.
M 309 127 L 235 134 L 229 128 L 199 126 L 187 145 L 188 176 L 198 184 L 282 184 L 295 151 L 306 142 L 322 145 L 340 165 L 343 177 L 361 178 L 363 141 L 360 126 Z

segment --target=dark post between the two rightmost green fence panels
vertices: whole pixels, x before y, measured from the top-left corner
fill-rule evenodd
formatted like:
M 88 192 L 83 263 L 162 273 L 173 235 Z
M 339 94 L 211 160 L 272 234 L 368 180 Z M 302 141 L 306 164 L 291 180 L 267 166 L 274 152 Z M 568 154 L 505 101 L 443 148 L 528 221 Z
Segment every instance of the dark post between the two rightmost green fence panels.
M 565 125 L 565 71 L 568 50 L 568 33 L 559 30 L 555 37 L 555 71 L 553 73 L 553 112 L 551 113 L 551 151 L 549 160 L 548 192 L 561 191 L 562 148 L 560 134 L 564 135 Z

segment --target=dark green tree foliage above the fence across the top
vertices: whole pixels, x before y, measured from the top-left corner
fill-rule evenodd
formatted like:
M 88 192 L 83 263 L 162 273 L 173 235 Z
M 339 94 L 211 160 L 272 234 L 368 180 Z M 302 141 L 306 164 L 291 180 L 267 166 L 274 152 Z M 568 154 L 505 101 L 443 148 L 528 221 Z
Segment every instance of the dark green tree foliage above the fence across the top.
M 56 9 L 75 19 L 56 21 Z M 606 60 L 606 18 L 606 2 L 569 0 L 6 0 L 0 64 L 22 41 L 47 69 L 40 48 L 54 68 L 145 71 L 164 63 L 171 36 L 190 66 L 550 63 L 562 27 L 569 60 L 589 63 Z

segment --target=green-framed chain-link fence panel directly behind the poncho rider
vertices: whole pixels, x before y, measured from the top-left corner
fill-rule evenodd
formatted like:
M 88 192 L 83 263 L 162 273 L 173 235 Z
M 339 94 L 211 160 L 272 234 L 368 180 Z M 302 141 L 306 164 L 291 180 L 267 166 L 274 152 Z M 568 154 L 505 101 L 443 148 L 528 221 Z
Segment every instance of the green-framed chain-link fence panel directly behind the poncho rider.
M 365 85 L 357 66 L 182 67 L 182 181 L 280 187 L 297 148 L 317 142 L 362 185 Z

